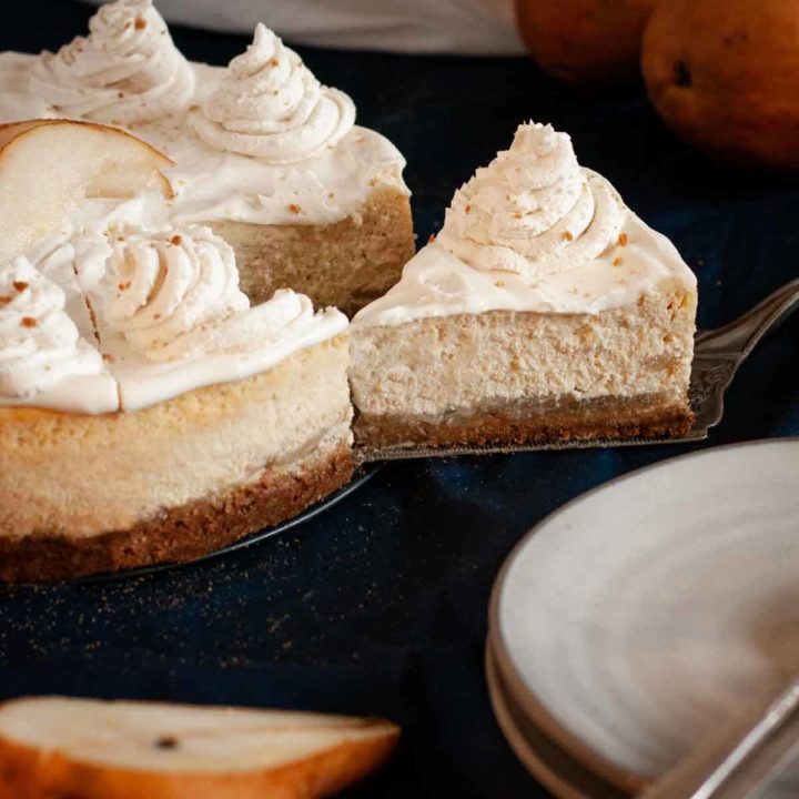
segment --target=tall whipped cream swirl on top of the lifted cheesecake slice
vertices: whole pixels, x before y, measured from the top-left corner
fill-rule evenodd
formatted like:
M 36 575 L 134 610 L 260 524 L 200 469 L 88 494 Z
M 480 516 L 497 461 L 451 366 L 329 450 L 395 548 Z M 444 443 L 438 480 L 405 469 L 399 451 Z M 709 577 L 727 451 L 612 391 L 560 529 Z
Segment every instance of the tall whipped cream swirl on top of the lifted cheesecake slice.
M 533 282 L 599 256 L 624 220 L 621 200 L 580 169 L 570 138 L 528 123 L 455 193 L 436 241 L 473 269 Z

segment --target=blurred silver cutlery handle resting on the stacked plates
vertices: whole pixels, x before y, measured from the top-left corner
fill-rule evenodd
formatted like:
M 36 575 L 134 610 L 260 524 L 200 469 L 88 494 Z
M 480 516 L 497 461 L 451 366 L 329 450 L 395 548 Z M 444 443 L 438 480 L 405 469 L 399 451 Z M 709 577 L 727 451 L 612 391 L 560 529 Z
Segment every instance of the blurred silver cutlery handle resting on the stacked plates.
M 639 799 L 755 799 L 797 757 L 799 680 L 756 716 L 711 737 Z

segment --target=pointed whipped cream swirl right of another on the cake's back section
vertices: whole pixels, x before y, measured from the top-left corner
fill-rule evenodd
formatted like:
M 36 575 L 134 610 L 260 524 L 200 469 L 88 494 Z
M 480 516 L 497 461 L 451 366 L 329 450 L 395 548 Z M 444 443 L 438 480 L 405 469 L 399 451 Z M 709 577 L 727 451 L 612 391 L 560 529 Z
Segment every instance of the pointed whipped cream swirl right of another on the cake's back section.
M 323 87 L 301 58 L 262 23 L 246 52 L 192 115 L 212 148 L 273 164 L 295 163 L 335 145 L 355 123 L 355 105 Z

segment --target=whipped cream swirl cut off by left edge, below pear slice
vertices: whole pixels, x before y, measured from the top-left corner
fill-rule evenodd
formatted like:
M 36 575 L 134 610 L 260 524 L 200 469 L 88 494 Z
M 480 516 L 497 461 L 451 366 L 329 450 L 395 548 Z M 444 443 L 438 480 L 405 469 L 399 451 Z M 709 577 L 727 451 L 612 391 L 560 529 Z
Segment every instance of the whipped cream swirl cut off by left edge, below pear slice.
M 104 371 L 64 312 L 64 293 L 26 257 L 0 269 L 0 397 L 29 398 Z

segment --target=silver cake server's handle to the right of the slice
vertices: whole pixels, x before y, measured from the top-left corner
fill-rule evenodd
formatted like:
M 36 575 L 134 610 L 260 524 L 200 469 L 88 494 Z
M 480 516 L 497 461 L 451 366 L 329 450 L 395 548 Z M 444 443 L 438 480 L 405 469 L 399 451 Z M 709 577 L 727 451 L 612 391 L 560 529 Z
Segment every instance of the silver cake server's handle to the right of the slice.
M 701 355 L 731 355 L 742 361 L 755 345 L 776 325 L 799 307 L 799 279 L 769 294 L 735 322 L 696 335 L 696 351 Z

